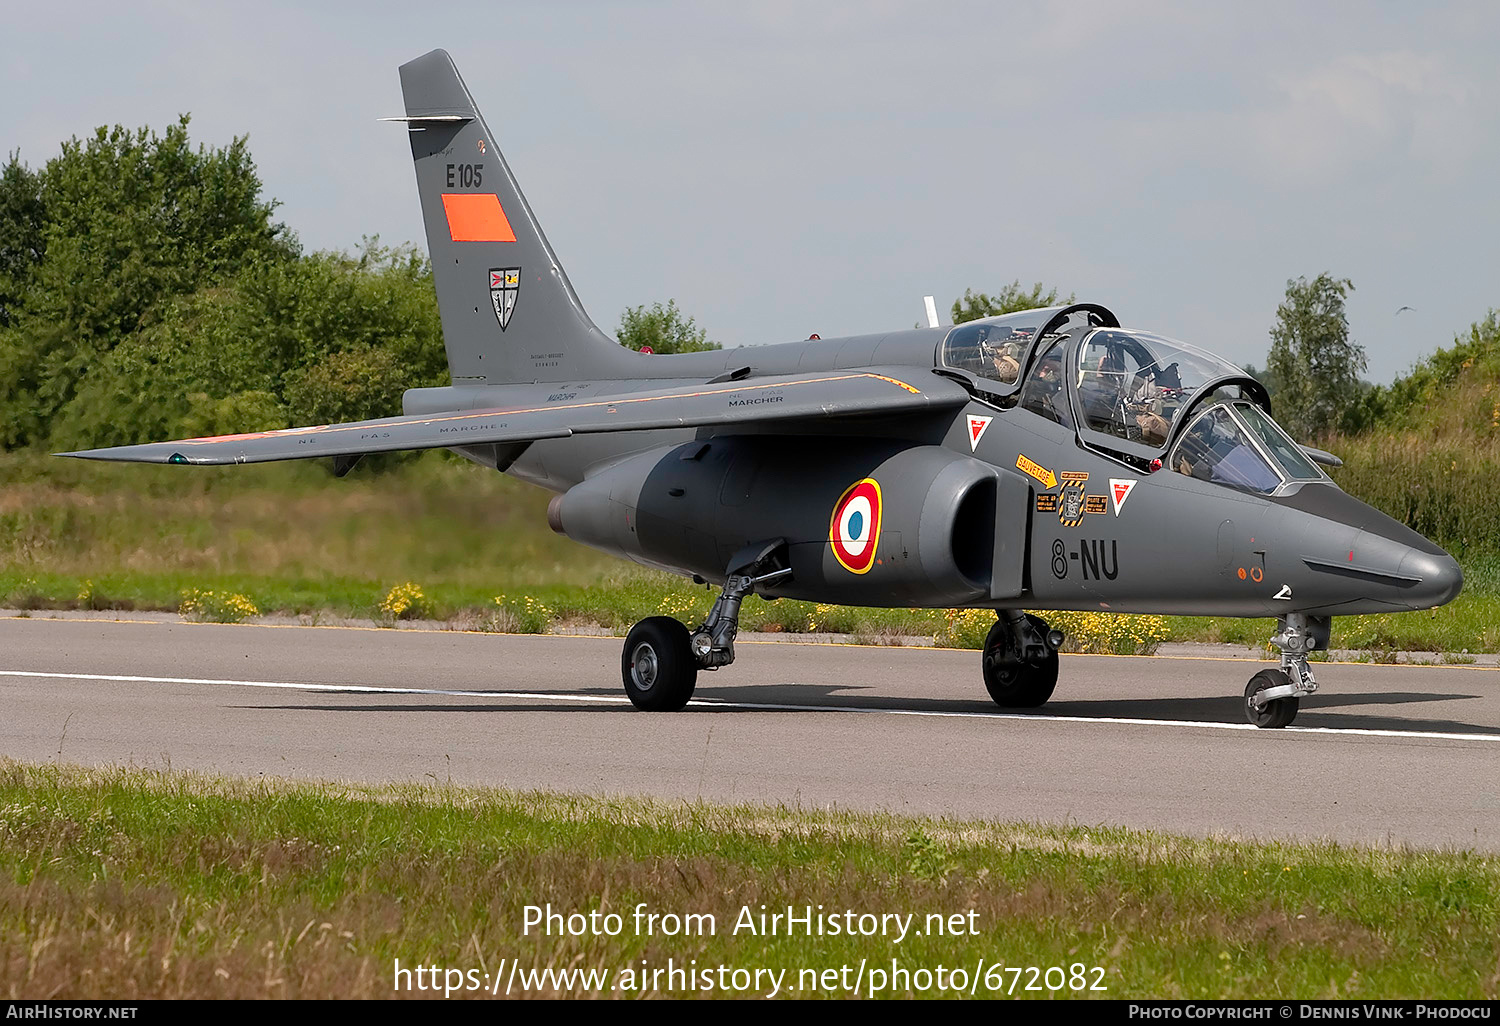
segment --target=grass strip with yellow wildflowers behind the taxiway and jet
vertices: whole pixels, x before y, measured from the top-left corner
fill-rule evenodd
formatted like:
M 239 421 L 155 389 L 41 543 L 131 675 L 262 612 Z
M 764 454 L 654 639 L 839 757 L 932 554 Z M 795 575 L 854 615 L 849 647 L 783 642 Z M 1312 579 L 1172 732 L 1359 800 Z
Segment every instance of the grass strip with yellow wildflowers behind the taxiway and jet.
M 262 612 L 381 618 L 412 582 L 406 615 L 478 630 L 700 618 L 712 592 L 568 542 L 546 526 L 548 495 L 429 453 L 344 480 L 314 464 L 180 468 L 0 454 L 0 603 L 22 609 L 176 610 L 192 590 L 242 594 Z M 1378 652 L 1500 651 L 1500 588 L 1476 562 L 1458 602 L 1424 614 L 1335 620 L 1334 646 Z M 496 604 L 496 597 L 502 602 Z M 1108 622 L 1106 622 L 1108 621 Z M 986 615 L 867 610 L 804 602 L 746 603 L 746 630 L 906 636 L 978 646 Z M 1272 621 L 1072 616 L 1094 651 L 1155 642 L 1260 645 Z

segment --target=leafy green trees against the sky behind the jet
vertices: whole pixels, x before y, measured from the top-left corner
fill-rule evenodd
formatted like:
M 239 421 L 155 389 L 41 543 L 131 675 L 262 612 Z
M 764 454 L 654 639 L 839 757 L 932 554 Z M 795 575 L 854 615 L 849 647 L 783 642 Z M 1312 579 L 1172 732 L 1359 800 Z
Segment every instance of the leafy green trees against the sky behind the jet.
M 248 140 L 194 147 L 99 128 L 40 168 L 0 168 L 0 446 L 92 447 L 362 420 L 447 381 L 432 267 L 414 246 L 303 252 L 276 220 Z M 1260 376 L 1298 438 L 1359 430 L 1410 386 L 1371 387 L 1348 332 L 1353 282 L 1287 282 Z M 1020 280 L 966 290 L 956 324 L 1072 302 Z M 1491 318 L 1492 322 L 1494 318 Z M 1476 326 L 1476 332 L 1479 326 Z M 675 300 L 636 306 L 618 340 L 718 348 Z M 1476 336 L 1478 338 L 1478 336 Z

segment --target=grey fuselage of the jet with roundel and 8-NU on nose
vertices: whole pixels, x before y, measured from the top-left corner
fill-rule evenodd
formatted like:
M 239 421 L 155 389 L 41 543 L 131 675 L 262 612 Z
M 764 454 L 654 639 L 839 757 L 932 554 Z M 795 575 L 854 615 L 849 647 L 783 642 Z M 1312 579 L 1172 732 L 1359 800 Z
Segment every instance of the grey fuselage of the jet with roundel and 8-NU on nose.
M 998 318 L 1006 320 L 1016 316 Z M 1074 326 L 1066 345 L 1092 330 Z M 921 381 L 940 368 L 950 332 L 680 356 L 621 351 L 621 378 L 412 390 L 405 411 L 568 402 L 684 380 L 860 368 L 906 368 L 909 380 Z M 1041 342 L 1034 336 L 1026 370 Z M 776 594 L 816 602 L 1280 616 L 1426 609 L 1458 594 L 1462 574 L 1446 552 L 1326 477 L 1262 495 L 1170 468 L 1152 471 L 1140 452 L 1100 452 L 1083 432 L 1036 416 L 1014 396 L 974 393 L 957 412 L 880 423 L 616 432 L 540 440 L 510 453 L 456 452 L 562 494 L 570 537 L 646 566 L 718 582 L 728 554 L 782 537 L 795 573 Z M 990 420 L 970 446 L 972 417 Z M 1174 424 L 1162 454 L 1186 420 Z M 830 518 L 861 478 L 879 480 L 888 526 L 879 538 L 884 558 L 850 573 L 830 552 L 830 532 L 837 534 Z M 1110 495 L 1114 483 L 1130 483 L 1124 502 Z

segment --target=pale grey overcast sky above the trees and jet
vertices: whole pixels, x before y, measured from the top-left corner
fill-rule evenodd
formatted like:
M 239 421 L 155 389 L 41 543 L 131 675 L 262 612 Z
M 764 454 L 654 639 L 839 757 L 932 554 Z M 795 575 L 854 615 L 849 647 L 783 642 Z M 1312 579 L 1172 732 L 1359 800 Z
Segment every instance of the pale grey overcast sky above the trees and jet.
M 442 46 L 606 332 L 902 328 L 1018 278 L 1263 366 L 1328 270 L 1389 381 L 1500 306 L 1497 42 L 1492 2 L 51 2 L 8 8 L 0 144 L 192 112 L 306 248 L 420 242 L 375 118 Z

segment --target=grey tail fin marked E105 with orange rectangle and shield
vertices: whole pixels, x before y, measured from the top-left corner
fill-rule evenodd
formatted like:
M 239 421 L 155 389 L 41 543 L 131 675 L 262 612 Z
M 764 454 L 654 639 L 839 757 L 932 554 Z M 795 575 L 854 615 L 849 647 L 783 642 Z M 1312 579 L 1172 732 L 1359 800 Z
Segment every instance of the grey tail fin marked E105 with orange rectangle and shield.
M 400 90 L 453 384 L 630 376 L 636 357 L 584 312 L 447 51 Z

